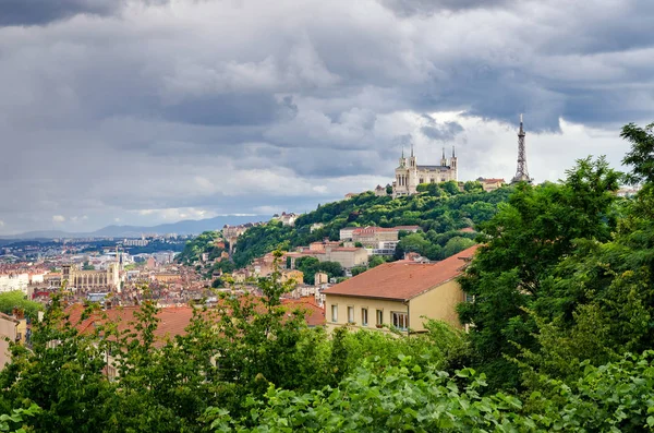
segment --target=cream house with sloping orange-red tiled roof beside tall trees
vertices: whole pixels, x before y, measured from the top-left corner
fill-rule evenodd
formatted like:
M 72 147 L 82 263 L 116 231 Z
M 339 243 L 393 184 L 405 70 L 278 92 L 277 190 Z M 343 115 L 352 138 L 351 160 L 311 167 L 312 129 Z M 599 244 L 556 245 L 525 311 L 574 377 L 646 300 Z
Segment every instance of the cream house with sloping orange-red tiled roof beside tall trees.
M 456 278 L 477 245 L 438 263 L 400 261 L 374 267 L 323 291 L 328 328 L 385 328 L 424 332 L 424 318 L 462 327 L 457 305 L 465 293 Z

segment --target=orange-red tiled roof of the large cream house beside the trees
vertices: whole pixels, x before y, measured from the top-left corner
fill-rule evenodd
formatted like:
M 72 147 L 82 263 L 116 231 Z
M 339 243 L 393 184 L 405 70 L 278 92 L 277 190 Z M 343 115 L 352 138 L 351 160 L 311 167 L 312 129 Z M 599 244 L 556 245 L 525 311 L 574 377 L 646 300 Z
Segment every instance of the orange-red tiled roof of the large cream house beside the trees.
M 405 301 L 461 275 L 465 266 L 461 258 L 472 257 L 477 248 L 471 246 L 438 263 L 386 263 L 332 286 L 324 293 Z

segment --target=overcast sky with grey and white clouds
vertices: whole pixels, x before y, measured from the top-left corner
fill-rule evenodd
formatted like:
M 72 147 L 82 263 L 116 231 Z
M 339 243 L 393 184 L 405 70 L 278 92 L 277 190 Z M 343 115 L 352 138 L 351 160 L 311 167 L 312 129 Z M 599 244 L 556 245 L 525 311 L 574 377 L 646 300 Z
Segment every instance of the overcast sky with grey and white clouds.
M 651 0 L 0 0 L 0 234 L 306 212 L 456 146 L 460 180 L 619 168 Z

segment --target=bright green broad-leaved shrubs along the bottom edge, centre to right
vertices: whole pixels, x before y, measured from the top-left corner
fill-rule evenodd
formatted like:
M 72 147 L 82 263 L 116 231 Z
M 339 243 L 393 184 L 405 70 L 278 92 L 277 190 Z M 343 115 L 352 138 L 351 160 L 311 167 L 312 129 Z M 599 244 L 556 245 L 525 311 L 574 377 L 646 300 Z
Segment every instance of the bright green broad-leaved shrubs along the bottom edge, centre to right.
M 382 371 L 365 363 L 336 389 L 300 394 L 270 386 L 264 398 L 249 400 L 245 417 L 213 408 L 208 418 L 216 432 L 651 432 L 653 356 L 577 365 L 582 377 L 572 386 L 547 381 L 556 399 L 534 393 L 525 401 L 484 396 L 485 376 L 472 369 L 450 376 L 400 357 L 399 365 Z

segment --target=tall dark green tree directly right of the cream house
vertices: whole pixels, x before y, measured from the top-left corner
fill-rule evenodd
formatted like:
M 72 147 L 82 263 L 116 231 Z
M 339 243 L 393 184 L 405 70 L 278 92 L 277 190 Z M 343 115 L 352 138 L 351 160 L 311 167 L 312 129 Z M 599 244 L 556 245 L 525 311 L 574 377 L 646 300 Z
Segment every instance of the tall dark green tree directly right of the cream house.
M 519 353 L 517 345 L 535 346 L 528 310 L 540 303 L 541 314 L 558 313 L 558 300 L 547 293 L 554 268 L 574 251 L 577 240 L 610 239 L 618 179 L 604 158 L 582 159 L 561 184 L 519 185 L 500 212 L 480 225 L 485 244 L 460 279 L 474 302 L 461 304 L 459 314 L 462 323 L 474 325 L 474 364 L 494 387 L 519 385 L 518 369 L 506 358 Z

